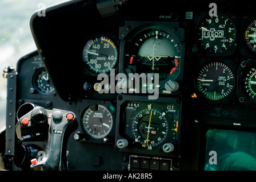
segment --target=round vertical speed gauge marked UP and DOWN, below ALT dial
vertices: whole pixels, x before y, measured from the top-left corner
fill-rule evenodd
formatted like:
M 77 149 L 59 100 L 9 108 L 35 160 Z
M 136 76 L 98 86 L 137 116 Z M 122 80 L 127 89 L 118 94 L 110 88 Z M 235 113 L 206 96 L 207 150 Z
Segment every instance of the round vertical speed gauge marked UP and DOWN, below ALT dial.
M 231 69 L 219 61 L 203 65 L 196 78 L 199 92 L 213 101 L 229 96 L 234 88 L 234 82 Z

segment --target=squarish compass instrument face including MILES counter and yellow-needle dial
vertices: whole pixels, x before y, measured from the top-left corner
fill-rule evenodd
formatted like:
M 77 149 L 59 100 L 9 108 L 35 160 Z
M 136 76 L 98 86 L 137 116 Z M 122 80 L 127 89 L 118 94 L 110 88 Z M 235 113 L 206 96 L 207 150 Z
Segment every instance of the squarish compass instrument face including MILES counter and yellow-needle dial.
M 179 110 L 174 104 L 127 102 L 126 131 L 135 147 L 155 150 L 178 138 Z

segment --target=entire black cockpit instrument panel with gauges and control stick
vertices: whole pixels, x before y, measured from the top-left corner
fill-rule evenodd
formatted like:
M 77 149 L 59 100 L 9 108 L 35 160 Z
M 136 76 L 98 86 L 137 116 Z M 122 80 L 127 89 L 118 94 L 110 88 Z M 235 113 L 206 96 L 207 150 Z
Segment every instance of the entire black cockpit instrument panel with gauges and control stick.
M 5 71 L 5 169 L 256 170 L 253 5 L 77 0 L 35 11 L 37 50 Z

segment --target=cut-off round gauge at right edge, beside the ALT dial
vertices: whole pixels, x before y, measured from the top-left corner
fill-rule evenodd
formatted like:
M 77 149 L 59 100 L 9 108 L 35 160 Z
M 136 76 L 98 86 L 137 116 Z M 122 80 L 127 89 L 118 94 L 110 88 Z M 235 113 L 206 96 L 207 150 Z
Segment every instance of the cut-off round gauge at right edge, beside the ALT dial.
M 246 28 L 245 43 L 250 51 L 256 53 L 256 19 L 254 19 Z

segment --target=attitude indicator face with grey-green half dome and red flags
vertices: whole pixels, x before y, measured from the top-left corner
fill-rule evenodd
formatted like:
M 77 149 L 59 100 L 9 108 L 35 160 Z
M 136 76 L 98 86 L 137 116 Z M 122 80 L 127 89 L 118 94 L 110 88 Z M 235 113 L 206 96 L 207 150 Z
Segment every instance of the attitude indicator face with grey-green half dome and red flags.
M 142 31 L 131 40 L 129 47 L 126 56 L 131 73 L 163 73 L 173 78 L 178 75 L 179 43 L 171 34 L 158 29 Z

